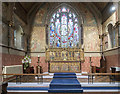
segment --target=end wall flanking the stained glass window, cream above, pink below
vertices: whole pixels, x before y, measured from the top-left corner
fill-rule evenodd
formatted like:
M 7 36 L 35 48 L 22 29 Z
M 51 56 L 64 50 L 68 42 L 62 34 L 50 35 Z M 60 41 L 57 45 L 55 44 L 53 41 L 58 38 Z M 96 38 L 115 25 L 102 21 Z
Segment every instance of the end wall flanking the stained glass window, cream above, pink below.
M 99 34 L 101 33 L 101 30 L 98 30 L 98 23 L 97 19 L 95 18 L 95 15 L 91 12 L 91 10 L 84 5 L 83 3 L 68 3 L 68 5 L 71 5 L 73 8 L 75 7 L 76 11 L 78 12 L 80 17 L 83 17 L 83 31 L 84 31 L 84 50 L 85 52 L 90 52 L 85 56 L 85 62 L 82 63 L 82 71 L 83 72 L 89 72 L 90 67 L 89 67 L 89 56 L 92 52 L 98 52 L 96 54 L 97 56 L 93 57 L 93 65 L 99 66 L 100 63 L 100 39 L 99 39 Z M 73 6 L 74 5 L 74 6 Z M 51 6 L 51 8 L 49 8 Z M 39 8 L 38 12 L 35 14 L 35 18 L 33 21 L 32 29 L 31 29 L 31 40 L 30 40 L 30 51 L 31 56 L 32 56 L 32 63 L 31 66 L 34 66 L 34 68 L 37 66 L 37 56 L 39 55 L 40 58 L 45 58 L 44 52 L 45 52 L 45 47 L 47 46 L 46 44 L 46 33 L 47 33 L 47 28 L 45 27 L 47 22 L 47 25 L 49 25 L 49 17 L 50 13 L 52 15 L 52 12 L 56 9 L 57 6 L 59 6 L 58 3 L 48 3 L 44 4 L 42 7 Z M 90 7 L 90 6 L 89 6 Z M 57 7 L 58 8 L 58 7 Z M 47 21 L 45 21 L 45 19 Z M 82 20 L 79 20 L 82 21 Z M 80 22 L 82 23 L 82 22 Z M 31 27 L 31 26 L 30 26 Z M 48 38 L 49 39 L 49 38 Z M 36 58 L 35 58 L 36 57 Z M 34 58 L 34 59 L 33 59 Z M 45 59 L 44 59 L 45 60 Z M 45 62 L 45 61 L 44 61 Z M 47 71 L 47 63 L 41 63 L 42 65 L 46 66 L 43 68 L 44 71 Z

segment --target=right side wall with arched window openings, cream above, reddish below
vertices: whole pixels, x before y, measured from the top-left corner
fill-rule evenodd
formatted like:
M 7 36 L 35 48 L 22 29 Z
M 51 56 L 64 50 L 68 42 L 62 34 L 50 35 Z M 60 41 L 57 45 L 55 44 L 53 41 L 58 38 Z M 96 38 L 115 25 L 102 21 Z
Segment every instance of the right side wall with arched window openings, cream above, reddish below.
M 106 14 L 107 15 L 107 14 Z M 118 11 L 116 10 L 108 19 L 103 23 L 103 34 L 106 34 L 106 38 L 103 40 L 103 54 L 106 57 L 107 72 L 111 72 L 111 67 L 120 67 L 119 65 L 119 46 L 118 46 L 118 31 L 119 26 L 116 24 L 118 22 Z M 116 31 L 115 35 L 115 46 L 111 46 L 110 35 L 107 29 L 108 24 L 113 25 L 112 32 Z M 108 48 L 105 47 L 105 41 L 108 41 Z

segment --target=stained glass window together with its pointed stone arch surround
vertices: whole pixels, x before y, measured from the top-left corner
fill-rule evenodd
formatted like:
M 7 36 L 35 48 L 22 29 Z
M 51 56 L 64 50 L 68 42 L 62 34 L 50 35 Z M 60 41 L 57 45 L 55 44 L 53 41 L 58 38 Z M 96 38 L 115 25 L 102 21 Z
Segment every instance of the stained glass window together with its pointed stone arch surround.
M 66 18 L 66 25 L 62 24 L 62 18 Z M 80 47 L 83 44 L 83 27 L 82 27 L 83 18 L 81 14 L 79 14 L 79 12 L 77 12 L 76 9 L 73 8 L 71 5 L 62 3 L 53 9 L 51 8 L 51 10 L 48 12 L 48 15 L 46 17 L 46 23 L 47 23 L 47 27 L 46 27 L 47 46 L 54 48 L 59 48 L 59 47 L 65 48 L 65 47 Z M 78 32 L 77 35 L 79 36 L 78 44 L 77 41 L 74 41 L 76 24 L 78 25 L 78 31 L 76 31 Z M 62 33 L 64 32 L 63 30 L 64 26 L 66 26 L 67 36 L 64 36 L 65 34 L 62 35 Z M 52 30 L 52 27 L 54 28 L 54 30 Z M 54 34 L 53 33 L 51 34 L 51 32 L 53 32 Z M 63 39 L 62 37 L 65 39 Z M 66 44 L 62 45 L 63 42 L 66 42 Z

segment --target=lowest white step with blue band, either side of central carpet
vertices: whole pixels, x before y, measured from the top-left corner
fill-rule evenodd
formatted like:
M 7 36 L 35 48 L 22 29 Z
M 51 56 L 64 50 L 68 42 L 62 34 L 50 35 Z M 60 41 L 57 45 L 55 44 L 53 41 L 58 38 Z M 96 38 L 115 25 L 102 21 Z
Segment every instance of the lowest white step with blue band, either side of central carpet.
M 8 94 L 19 94 L 19 92 L 21 92 L 21 94 L 24 93 L 26 94 L 27 92 L 29 92 L 29 94 L 32 94 L 32 92 L 35 92 L 35 94 L 37 94 L 37 92 L 39 92 L 40 94 L 48 93 L 49 84 L 50 83 L 21 83 L 21 84 L 17 83 L 16 84 L 15 82 L 9 82 L 7 87 L 7 92 Z M 118 88 L 119 84 L 120 83 L 118 82 L 115 83 L 95 82 L 93 84 L 82 82 L 81 87 L 83 88 L 83 94 L 88 94 L 88 92 L 90 94 L 100 94 L 99 92 L 103 94 L 118 94 L 120 89 L 120 87 Z M 69 94 L 69 93 L 65 93 L 65 94 Z

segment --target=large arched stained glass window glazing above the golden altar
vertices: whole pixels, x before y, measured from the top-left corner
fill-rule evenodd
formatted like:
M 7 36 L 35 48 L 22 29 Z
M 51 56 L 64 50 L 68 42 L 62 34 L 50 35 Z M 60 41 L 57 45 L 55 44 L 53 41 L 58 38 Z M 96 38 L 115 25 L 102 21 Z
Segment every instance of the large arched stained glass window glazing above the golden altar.
M 49 46 L 79 47 L 81 43 L 79 28 L 77 15 L 68 8 L 59 8 L 50 20 Z

